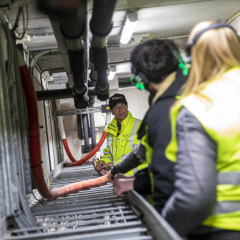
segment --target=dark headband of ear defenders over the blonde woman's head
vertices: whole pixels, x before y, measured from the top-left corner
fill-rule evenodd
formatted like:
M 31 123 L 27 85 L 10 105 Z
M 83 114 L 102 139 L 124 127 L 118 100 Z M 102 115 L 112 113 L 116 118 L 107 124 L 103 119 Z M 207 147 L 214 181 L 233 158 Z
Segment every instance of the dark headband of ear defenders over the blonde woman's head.
M 224 28 L 224 27 L 232 29 L 235 32 L 235 34 L 237 35 L 235 29 L 233 27 L 229 26 L 228 24 L 223 23 L 223 22 L 213 23 L 213 24 L 209 25 L 208 27 L 206 27 L 206 28 L 202 29 L 201 31 L 199 31 L 194 36 L 194 38 L 187 44 L 186 49 L 185 49 L 186 55 L 191 59 L 192 47 L 196 44 L 197 40 L 202 36 L 203 33 L 207 32 L 209 30 L 212 30 L 212 29 L 218 29 L 218 28 Z

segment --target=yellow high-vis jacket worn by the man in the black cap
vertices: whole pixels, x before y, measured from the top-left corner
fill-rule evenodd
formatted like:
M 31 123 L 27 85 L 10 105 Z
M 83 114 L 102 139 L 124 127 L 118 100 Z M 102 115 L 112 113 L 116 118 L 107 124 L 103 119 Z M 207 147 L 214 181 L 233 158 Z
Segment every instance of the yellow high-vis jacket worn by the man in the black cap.
M 121 123 L 121 131 L 118 134 L 117 120 L 114 118 L 107 128 L 107 148 L 103 150 L 104 156 L 100 161 L 105 163 L 113 162 L 114 165 L 123 161 L 139 143 L 137 139 L 137 130 L 141 124 L 139 119 L 133 118 L 128 112 L 127 117 Z M 137 168 L 129 171 L 126 175 L 134 175 L 138 170 L 148 167 L 146 162 L 143 162 Z

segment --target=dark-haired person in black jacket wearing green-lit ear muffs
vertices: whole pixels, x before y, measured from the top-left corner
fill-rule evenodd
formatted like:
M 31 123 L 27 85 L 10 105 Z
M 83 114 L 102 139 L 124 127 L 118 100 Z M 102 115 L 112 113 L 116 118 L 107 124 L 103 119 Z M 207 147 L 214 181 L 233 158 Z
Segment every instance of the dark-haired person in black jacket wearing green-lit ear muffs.
M 165 148 L 171 140 L 169 111 L 186 82 L 187 69 L 181 68 L 183 63 L 176 44 L 160 39 L 136 46 L 131 53 L 131 64 L 136 87 L 150 92 L 150 108 L 138 130 L 141 144 L 111 169 L 109 179 L 115 175 L 113 187 L 116 195 L 124 196 L 134 189 L 160 213 L 174 190 L 174 163 L 165 156 Z M 149 167 L 138 171 L 135 180 L 117 175 L 126 173 L 144 160 Z

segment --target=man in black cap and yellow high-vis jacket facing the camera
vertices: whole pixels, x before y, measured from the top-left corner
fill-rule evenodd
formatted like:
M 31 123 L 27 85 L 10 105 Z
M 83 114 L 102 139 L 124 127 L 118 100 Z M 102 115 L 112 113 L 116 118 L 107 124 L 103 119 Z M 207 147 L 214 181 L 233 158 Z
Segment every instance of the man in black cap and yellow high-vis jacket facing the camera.
M 121 162 L 138 144 L 137 130 L 141 120 L 136 119 L 128 111 L 127 100 L 123 94 L 114 94 L 109 99 L 111 113 L 115 118 L 109 123 L 106 131 L 107 147 L 103 150 L 103 157 L 97 162 L 96 170 L 105 169 Z M 143 162 L 138 167 L 130 170 L 126 175 L 134 175 L 138 170 L 147 167 Z

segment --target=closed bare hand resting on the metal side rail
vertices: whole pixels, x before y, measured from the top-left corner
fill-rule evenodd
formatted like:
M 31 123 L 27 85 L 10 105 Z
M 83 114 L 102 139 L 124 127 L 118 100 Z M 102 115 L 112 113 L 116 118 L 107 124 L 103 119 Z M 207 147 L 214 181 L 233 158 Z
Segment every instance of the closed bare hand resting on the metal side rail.
M 113 180 L 113 193 L 119 197 L 124 197 L 126 192 L 133 190 L 134 176 L 118 174 Z

